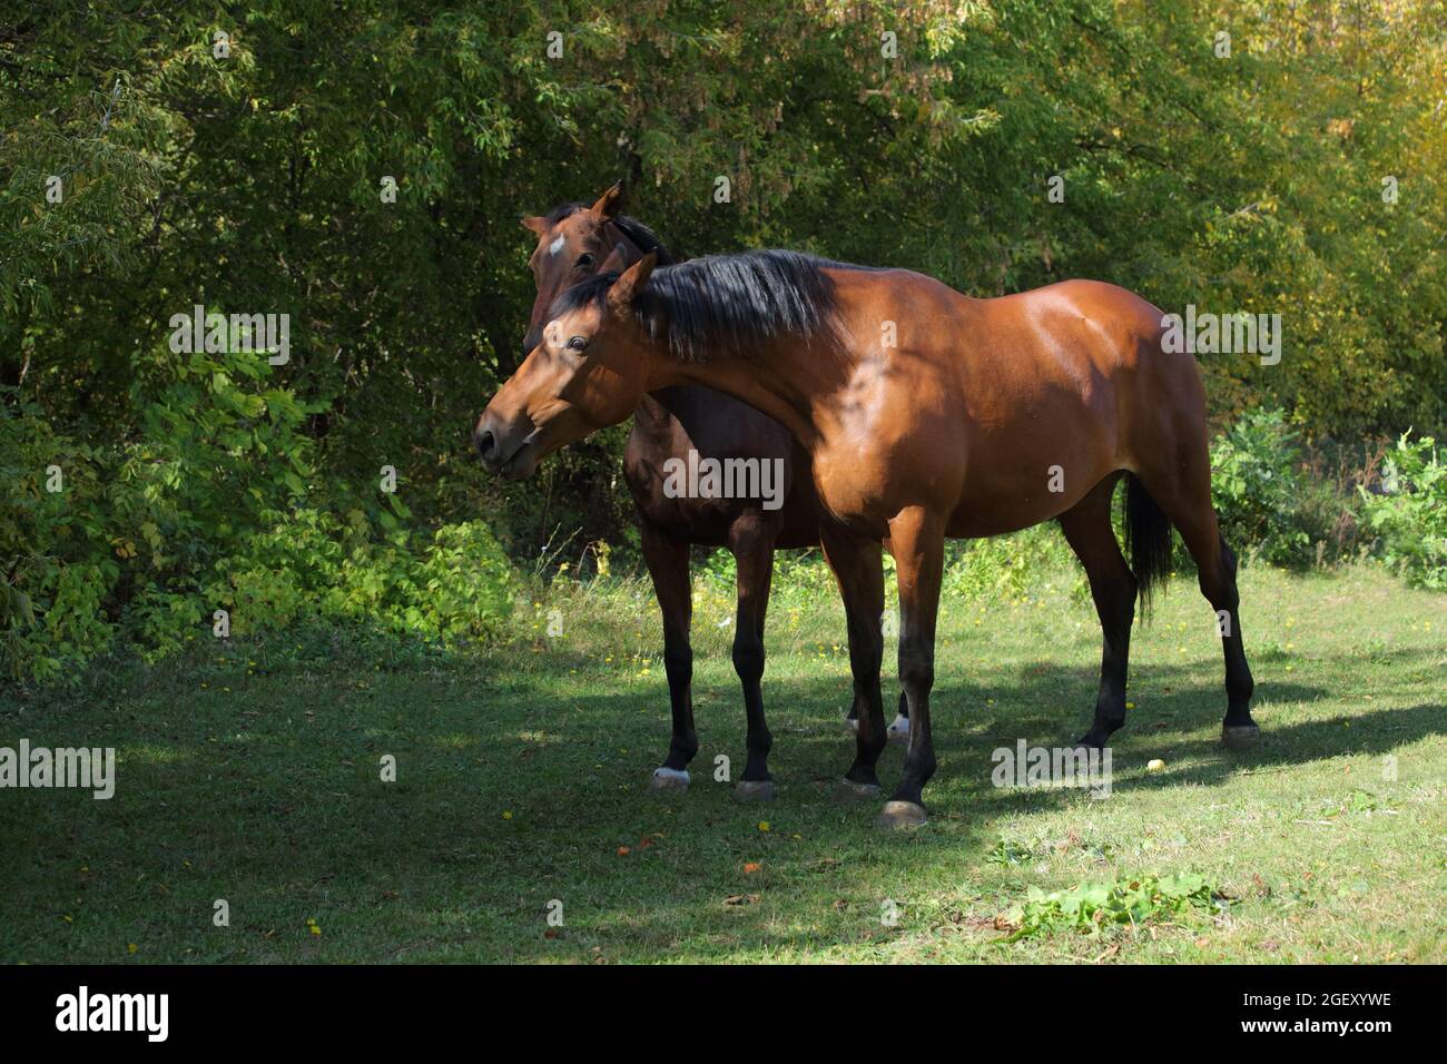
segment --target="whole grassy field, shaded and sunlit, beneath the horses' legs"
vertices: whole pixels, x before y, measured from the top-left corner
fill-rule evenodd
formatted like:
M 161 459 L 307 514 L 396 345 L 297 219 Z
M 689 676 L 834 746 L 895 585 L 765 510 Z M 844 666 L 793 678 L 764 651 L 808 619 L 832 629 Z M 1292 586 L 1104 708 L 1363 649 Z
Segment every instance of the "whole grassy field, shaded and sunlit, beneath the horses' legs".
M 1214 615 L 1182 578 L 1136 633 L 1110 798 L 997 789 L 994 748 L 1088 725 L 1100 636 L 1072 583 L 946 601 L 941 769 L 912 832 L 831 802 L 852 743 L 839 607 L 784 586 L 770 805 L 712 779 L 715 756 L 744 754 L 713 589 L 686 795 L 647 792 L 669 712 L 637 583 L 544 601 L 538 624 L 557 605 L 564 636 L 505 653 L 233 641 L 0 695 L 0 746 L 119 757 L 111 801 L 0 790 L 0 961 L 1447 960 L 1447 598 L 1370 567 L 1244 570 L 1263 738 L 1230 753 Z M 1218 905 L 1004 941 L 1030 887 L 1178 873 Z

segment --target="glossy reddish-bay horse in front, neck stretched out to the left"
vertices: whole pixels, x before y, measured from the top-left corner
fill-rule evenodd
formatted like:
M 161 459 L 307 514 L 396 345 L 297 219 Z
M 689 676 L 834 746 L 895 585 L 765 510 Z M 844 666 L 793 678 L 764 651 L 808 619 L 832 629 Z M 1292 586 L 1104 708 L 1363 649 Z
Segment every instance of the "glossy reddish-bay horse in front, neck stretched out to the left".
M 488 404 L 475 446 L 491 470 L 530 476 L 550 452 L 627 418 L 676 385 L 726 392 L 809 452 L 820 525 L 845 599 L 862 698 L 844 796 L 880 793 L 881 541 L 900 596 L 909 701 L 904 769 L 886 827 L 923 824 L 935 773 L 929 692 L 945 537 L 1055 518 L 1085 565 L 1104 646 L 1101 747 L 1126 721 L 1137 595 L 1169 575 L 1175 525 L 1217 611 L 1226 659 L 1221 738 L 1256 741 L 1236 557 L 1211 505 L 1205 391 L 1194 358 L 1163 350 L 1162 314 L 1097 281 L 977 300 L 904 269 L 761 250 L 654 269 L 655 256 L 569 288 L 541 339 Z M 1110 523 L 1126 479 L 1126 563 Z

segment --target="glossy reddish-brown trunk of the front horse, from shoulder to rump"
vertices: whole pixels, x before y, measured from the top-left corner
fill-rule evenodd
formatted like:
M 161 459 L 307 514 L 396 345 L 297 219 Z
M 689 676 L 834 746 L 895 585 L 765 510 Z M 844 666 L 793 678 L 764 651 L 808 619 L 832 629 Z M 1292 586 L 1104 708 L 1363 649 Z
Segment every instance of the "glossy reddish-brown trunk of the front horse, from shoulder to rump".
M 1062 281 L 981 300 L 909 271 L 835 281 L 857 345 L 841 446 L 825 459 L 836 508 L 864 468 L 886 485 L 875 523 L 928 501 L 951 534 L 991 536 L 1202 436 L 1194 359 L 1163 353 L 1160 311 L 1124 288 Z M 894 323 L 893 347 L 871 334 L 881 323 Z

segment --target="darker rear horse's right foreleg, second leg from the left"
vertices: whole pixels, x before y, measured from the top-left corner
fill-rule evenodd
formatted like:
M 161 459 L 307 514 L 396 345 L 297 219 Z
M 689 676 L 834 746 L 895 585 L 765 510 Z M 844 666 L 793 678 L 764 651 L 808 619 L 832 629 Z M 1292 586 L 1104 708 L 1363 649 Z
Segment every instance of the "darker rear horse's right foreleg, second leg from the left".
M 758 511 L 739 517 L 729 528 L 729 550 L 738 567 L 738 617 L 734 628 L 734 672 L 744 685 L 748 717 L 748 761 L 744 777 L 734 785 L 741 802 L 767 802 L 774 796 L 768 774 L 768 751 L 774 744 L 764 721 L 764 615 L 774 576 L 774 530 Z

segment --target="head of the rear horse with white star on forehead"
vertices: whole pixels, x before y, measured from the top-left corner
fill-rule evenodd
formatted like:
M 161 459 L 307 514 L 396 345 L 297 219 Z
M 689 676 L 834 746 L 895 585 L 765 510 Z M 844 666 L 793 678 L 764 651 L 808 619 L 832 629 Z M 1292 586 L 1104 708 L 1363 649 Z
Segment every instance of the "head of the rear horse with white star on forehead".
M 543 339 L 547 310 L 564 291 L 586 281 L 602 269 L 603 261 L 624 242 L 624 233 L 615 224 L 624 206 L 624 182 L 619 181 L 592 207 L 569 204 L 548 216 L 530 216 L 522 226 L 537 233 L 538 246 L 528 259 L 538 294 L 528 317 L 528 332 L 522 337 L 522 353 L 527 355 Z M 625 256 L 628 253 L 625 248 Z M 634 258 L 638 253 L 634 252 Z M 628 258 L 624 265 L 632 262 Z

